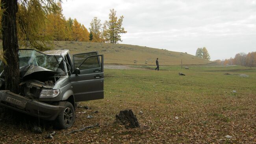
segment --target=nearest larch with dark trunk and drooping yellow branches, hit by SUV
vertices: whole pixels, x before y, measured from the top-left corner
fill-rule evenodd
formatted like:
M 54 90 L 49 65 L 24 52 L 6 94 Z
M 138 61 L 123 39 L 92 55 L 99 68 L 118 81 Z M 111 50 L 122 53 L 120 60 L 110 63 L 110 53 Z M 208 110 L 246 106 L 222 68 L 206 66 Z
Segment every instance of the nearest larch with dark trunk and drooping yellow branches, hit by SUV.
M 19 45 L 17 23 L 25 40 L 38 49 L 43 49 L 45 37 L 40 29 L 45 23 L 45 13 L 56 11 L 57 0 L 1 0 L 2 45 L 6 63 L 4 63 L 5 89 L 19 94 Z M 21 7 L 19 13 L 19 7 Z M 17 14 L 17 15 L 16 15 Z M 40 23 L 42 22 L 42 23 Z

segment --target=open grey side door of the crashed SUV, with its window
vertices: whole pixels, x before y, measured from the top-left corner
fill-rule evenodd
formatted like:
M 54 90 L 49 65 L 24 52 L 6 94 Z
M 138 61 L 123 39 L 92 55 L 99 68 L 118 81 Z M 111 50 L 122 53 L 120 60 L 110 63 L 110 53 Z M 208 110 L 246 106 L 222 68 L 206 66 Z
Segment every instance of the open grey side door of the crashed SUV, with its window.
M 73 64 L 75 71 L 70 78 L 75 102 L 103 99 L 103 55 L 98 52 L 75 54 Z

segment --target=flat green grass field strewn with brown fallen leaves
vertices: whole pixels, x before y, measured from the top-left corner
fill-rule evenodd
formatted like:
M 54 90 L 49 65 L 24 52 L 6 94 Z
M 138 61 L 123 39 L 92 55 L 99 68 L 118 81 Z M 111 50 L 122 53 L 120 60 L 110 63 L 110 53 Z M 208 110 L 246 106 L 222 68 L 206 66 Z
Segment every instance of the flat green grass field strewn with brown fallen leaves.
M 0 143 L 256 143 L 256 68 L 137 68 L 105 69 L 104 99 L 83 102 L 91 110 L 78 108 L 74 126 L 57 130 L 53 140 L 45 139 L 53 131 L 51 125 L 43 134 L 35 134 L 28 124 L 13 124 L 2 117 Z M 125 109 L 132 109 L 140 128 L 127 130 L 115 123 L 115 115 Z M 88 115 L 94 118 L 87 119 Z M 67 135 L 95 123 L 100 126 Z

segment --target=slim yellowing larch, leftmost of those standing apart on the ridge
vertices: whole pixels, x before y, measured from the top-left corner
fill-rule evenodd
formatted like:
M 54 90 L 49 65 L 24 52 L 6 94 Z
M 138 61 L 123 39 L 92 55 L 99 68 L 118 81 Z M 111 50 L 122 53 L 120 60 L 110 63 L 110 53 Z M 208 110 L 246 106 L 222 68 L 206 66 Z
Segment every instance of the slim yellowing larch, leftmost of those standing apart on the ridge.
M 95 42 L 100 42 L 100 28 L 101 28 L 101 23 L 100 20 L 97 17 L 94 17 L 93 20 L 90 23 L 91 27 L 89 30 L 93 33 L 93 41 Z

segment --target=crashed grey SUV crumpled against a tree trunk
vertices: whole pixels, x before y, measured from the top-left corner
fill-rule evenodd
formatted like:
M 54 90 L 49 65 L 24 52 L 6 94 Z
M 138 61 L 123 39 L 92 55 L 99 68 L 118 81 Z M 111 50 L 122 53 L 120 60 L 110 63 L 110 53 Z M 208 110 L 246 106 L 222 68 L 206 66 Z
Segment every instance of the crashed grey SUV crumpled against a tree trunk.
M 98 52 L 75 54 L 71 59 L 68 49 L 20 49 L 19 67 L 20 94 L 0 90 L 0 106 L 55 120 L 57 128 L 73 125 L 76 103 L 104 98 L 103 55 Z M 3 63 L 0 70 L 3 89 Z

